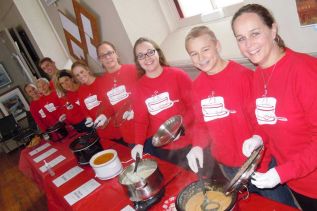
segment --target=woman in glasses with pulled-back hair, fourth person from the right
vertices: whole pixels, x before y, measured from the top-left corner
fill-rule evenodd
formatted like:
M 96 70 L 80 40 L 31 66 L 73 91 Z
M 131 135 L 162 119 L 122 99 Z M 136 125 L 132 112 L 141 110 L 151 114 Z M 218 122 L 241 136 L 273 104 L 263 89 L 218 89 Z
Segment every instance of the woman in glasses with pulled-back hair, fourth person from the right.
M 111 121 L 120 129 L 123 137 L 122 143 L 130 145 L 134 139 L 133 116 L 131 107 L 132 89 L 138 79 L 134 64 L 120 64 L 115 46 L 107 41 L 99 44 L 97 48 L 99 61 L 104 68 L 102 75 L 105 100 L 114 110 Z

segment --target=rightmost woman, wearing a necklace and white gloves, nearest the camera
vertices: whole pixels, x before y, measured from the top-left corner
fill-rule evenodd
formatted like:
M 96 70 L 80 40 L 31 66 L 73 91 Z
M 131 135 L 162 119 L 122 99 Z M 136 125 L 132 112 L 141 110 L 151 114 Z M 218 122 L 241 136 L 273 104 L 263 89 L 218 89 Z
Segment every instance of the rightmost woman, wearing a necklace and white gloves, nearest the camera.
M 257 129 L 268 135 L 266 145 L 277 161 L 251 182 L 263 189 L 286 183 L 303 210 L 317 210 L 317 59 L 287 48 L 261 5 L 243 6 L 231 25 L 241 53 L 256 65 Z M 246 140 L 243 154 L 250 156 L 260 144 Z

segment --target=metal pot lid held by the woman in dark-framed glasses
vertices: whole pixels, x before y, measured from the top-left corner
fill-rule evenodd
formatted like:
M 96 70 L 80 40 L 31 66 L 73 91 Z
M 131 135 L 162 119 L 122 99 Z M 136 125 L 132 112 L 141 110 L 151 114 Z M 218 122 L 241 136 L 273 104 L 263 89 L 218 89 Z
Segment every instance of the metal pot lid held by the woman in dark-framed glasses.
M 155 147 L 164 146 L 172 142 L 180 132 L 183 118 L 181 115 L 172 116 L 166 120 L 152 138 Z

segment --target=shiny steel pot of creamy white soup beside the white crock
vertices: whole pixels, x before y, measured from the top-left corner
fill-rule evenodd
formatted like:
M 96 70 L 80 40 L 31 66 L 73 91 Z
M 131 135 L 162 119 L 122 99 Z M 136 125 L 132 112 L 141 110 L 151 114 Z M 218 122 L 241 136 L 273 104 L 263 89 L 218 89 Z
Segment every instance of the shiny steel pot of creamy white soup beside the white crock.
M 140 160 L 136 172 L 135 163 L 126 167 L 119 175 L 119 183 L 125 187 L 131 201 L 150 199 L 163 188 L 163 175 L 157 162 L 152 159 Z

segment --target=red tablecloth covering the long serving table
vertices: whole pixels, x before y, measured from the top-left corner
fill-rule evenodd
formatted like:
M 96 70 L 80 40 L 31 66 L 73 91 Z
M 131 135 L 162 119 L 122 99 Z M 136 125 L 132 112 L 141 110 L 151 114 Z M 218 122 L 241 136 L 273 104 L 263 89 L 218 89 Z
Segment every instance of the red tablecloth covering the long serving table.
M 70 143 L 69 139 L 70 138 L 66 138 L 61 143 L 52 143 L 52 147 L 58 150 L 58 154 L 62 154 L 66 157 L 66 160 L 53 167 L 53 170 L 55 172 L 55 176 L 53 177 L 50 176 L 48 173 L 43 174 L 41 171 L 38 170 L 40 165 L 34 162 L 34 156 L 32 157 L 29 155 L 29 149 L 25 149 L 21 153 L 20 167 L 23 165 L 25 167 L 26 165 L 30 168 L 30 170 L 26 171 L 25 168 L 20 169 L 24 174 L 28 174 L 28 176 L 30 176 L 41 188 L 44 189 L 48 200 L 49 210 L 121 210 L 127 205 L 133 206 L 124 188 L 119 184 L 117 177 L 110 180 L 100 180 L 98 178 L 95 178 L 94 171 L 89 165 L 81 166 L 83 171 L 62 186 L 55 186 L 55 184 L 53 183 L 54 179 L 62 175 L 68 169 L 77 166 L 74 155 L 68 149 L 68 145 Z M 101 141 L 101 144 L 104 148 L 115 149 L 118 152 L 118 156 L 123 162 L 124 167 L 133 162 L 130 159 L 129 148 L 117 143 L 104 140 Z M 49 161 L 56 156 L 57 154 L 55 156 L 51 155 L 47 158 L 47 160 Z M 195 174 L 190 171 L 186 171 L 181 167 L 154 158 L 150 155 L 145 155 L 144 157 L 155 159 L 158 162 L 159 169 L 164 176 L 164 183 L 167 184 L 165 187 L 165 194 L 163 198 L 150 210 L 165 210 L 163 208 L 165 202 L 173 201 L 173 199 L 177 197 L 178 193 L 182 189 L 184 189 L 185 186 L 197 180 L 197 176 Z M 64 199 L 64 196 L 93 178 L 101 185 L 92 193 L 82 198 L 75 204 L 68 204 L 68 202 Z M 239 207 L 239 209 L 243 211 L 296 210 L 294 208 L 271 201 L 256 194 L 251 194 L 247 200 L 239 201 L 237 207 Z

